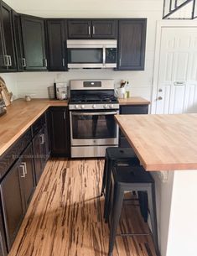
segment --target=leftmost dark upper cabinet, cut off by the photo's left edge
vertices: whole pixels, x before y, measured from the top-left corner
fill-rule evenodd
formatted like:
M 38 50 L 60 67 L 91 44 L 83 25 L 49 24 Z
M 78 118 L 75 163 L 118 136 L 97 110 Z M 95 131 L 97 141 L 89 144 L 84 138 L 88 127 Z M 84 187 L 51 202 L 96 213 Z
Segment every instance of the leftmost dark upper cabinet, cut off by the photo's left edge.
M 1 12 L 1 71 L 17 71 L 15 45 L 13 37 L 12 8 L 0 2 Z

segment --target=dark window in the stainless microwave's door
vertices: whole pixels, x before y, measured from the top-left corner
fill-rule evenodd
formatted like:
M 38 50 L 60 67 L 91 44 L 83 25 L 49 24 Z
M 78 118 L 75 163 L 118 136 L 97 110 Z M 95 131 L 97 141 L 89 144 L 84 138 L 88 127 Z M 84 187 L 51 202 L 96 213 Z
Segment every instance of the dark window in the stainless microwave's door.
M 68 62 L 75 63 L 102 63 L 102 49 L 68 49 Z

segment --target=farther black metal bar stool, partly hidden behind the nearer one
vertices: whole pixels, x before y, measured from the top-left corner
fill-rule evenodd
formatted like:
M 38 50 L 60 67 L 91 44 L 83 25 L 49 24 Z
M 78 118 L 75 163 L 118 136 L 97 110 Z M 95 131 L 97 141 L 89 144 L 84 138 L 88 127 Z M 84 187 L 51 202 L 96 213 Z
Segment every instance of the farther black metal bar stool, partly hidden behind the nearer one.
M 104 218 L 108 222 L 108 207 L 109 207 L 109 191 L 111 170 L 114 165 L 140 165 L 137 155 L 132 148 L 115 148 L 109 147 L 106 149 L 106 159 L 104 172 L 102 177 L 101 196 L 105 192 Z M 145 222 L 148 220 L 147 193 L 138 191 L 140 211 Z

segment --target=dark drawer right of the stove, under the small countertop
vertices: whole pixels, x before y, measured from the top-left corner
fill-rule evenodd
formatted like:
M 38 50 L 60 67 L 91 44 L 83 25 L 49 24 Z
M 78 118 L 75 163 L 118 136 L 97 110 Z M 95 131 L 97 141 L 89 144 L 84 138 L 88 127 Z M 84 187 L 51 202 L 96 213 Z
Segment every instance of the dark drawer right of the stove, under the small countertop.
M 121 106 L 122 115 L 141 115 L 148 114 L 148 105 L 127 105 Z

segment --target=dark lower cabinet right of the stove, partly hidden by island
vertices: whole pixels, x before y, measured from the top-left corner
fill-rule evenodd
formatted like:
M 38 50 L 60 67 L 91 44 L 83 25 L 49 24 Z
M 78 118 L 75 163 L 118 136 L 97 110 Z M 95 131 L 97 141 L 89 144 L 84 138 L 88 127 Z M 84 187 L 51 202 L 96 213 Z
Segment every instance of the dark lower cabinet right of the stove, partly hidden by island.
M 122 114 L 122 115 L 148 114 L 148 104 L 120 106 L 120 114 Z M 121 147 L 121 148 L 130 148 L 131 147 L 127 141 L 127 138 L 122 133 L 121 129 L 119 130 L 119 147 Z

